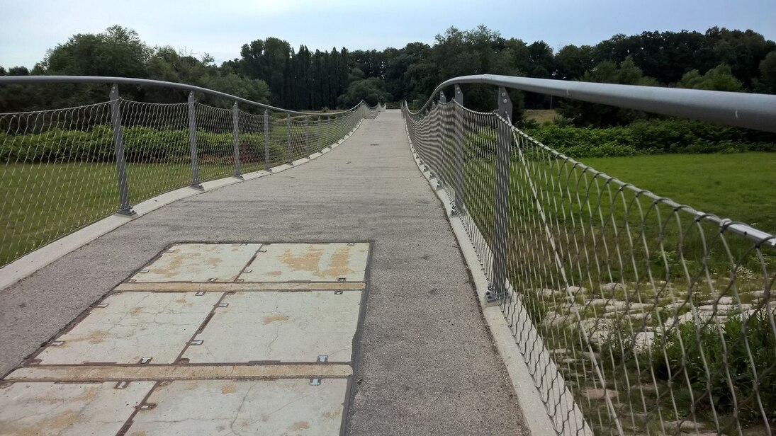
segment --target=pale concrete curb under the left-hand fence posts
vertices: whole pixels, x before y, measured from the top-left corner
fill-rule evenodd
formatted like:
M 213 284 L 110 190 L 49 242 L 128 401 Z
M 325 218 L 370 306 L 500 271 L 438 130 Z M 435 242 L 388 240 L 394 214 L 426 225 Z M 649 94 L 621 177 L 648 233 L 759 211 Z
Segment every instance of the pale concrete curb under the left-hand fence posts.
M 283 163 L 277 167 L 270 168 L 269 171 L 259 170 L 251 173 L 244 173 L 242 174 L 242 179 L 237 179 L 236 177 L 224 177 L 223 179 L 206 181 L 202 183 L 202 187 L 204 188 L 202 190 L 194 189 L 192 187 L 182 187 L 175 189 L 174 191 L 168 191 L 164 194 L 159 194 L 156 197 L 151 197 L 146 201 L 135 204 L 133 206 L 133 210 L 136 212 L 136 214 L 131 217 L 118 214 L 110 215 L 106 218 L 102 218 L 99 221 L 95 221 L 94 223 L 87 225 L 84 228 L 65 235 L 60 239 L 56 239 L 47 245 L 43 245 L 39 249 L 36 249 L 33 252 L 29 252 L 19 259 L 16 259 L 12 263 L 9 263 L 8 265 L 0 268 L 0 292 L 2 292 L 2 290 L 5 288 L 10 287 L 12 284 L 18 282 L 19 280 L 32 275 L 38 269 L 50 265 L 50 263 L 60 259 L 62 256 L 68 254 L 69 252 L 73 252 L 81 246 L 94 241 L 100 236 L 121 227 L 127 222 L 133 221 L 136 218 L 140 218 L 141 216 L 146 215 L 151 211 L 155 211 L 162 206 L 166 206 L 167 204 L 181 200 L 182 198 L 192 197 L 197 194 L 202 194 L 203 192 L 213 191 L 214 189 L 218 189 L 220 187 L 242 183 L 246 180 L 258 179 L 259 177 L 265 177 L 275 173 L 282 173 L 285 170 L 289 170 L 303 163 L 310 162 L 310 160 L 314 160 L 317 157 L 323 156 L 324 154 L 331 152 L 332 149 L 337 148 L 342 142 L 345 142 L 346 139 L 350 138 L 356 129 L 359 129 L 359 126 L 362 124 L 362 122 L 364 122 L 363 119 L 359 121 L 355 127 L 350 132 L 348 132 L 347 135 L 345 135 L 345 137 L 338 139 L 338 141 L 331 144 L 331 146 L 324 147 L 324 149 L 321 149 L 320 152 L 312 153 L 310 157 L 304 157 L 302 159 L 295 160 L 291 164 Z

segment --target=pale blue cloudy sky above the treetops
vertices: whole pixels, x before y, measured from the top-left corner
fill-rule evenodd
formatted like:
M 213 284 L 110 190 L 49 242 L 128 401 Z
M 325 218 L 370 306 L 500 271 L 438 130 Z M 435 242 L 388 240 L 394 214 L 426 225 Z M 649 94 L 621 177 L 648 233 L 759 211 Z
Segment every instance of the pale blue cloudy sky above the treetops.
M 69 36 L 113 24 L 137 30 L 151 46 L 210 53 L 220 64 L 268 36 L 310 50 L 381 50 L 479 24 L 555 50 L 616 33 L 712 26 L 776 39 L 776 0 L 0 0 L 0 66 L 33 67 Z

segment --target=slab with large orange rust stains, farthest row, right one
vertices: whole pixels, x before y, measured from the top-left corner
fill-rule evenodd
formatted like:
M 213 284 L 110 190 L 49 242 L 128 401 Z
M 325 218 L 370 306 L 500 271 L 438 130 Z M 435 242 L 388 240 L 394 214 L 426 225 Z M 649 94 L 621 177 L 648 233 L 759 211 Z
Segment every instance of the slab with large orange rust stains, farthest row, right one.
M 266 244 L 240 278 L 246 282 L 362 282 L 368 258 L 368 243 Z

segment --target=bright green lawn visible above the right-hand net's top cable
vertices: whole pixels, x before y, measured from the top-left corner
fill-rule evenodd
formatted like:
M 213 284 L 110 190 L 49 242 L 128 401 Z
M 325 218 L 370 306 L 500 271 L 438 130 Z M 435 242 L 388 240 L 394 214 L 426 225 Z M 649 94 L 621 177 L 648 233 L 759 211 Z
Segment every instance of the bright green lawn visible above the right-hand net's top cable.
M 776 233 L 776 153 L 664 154 L 580 161 L 698 211 Z

